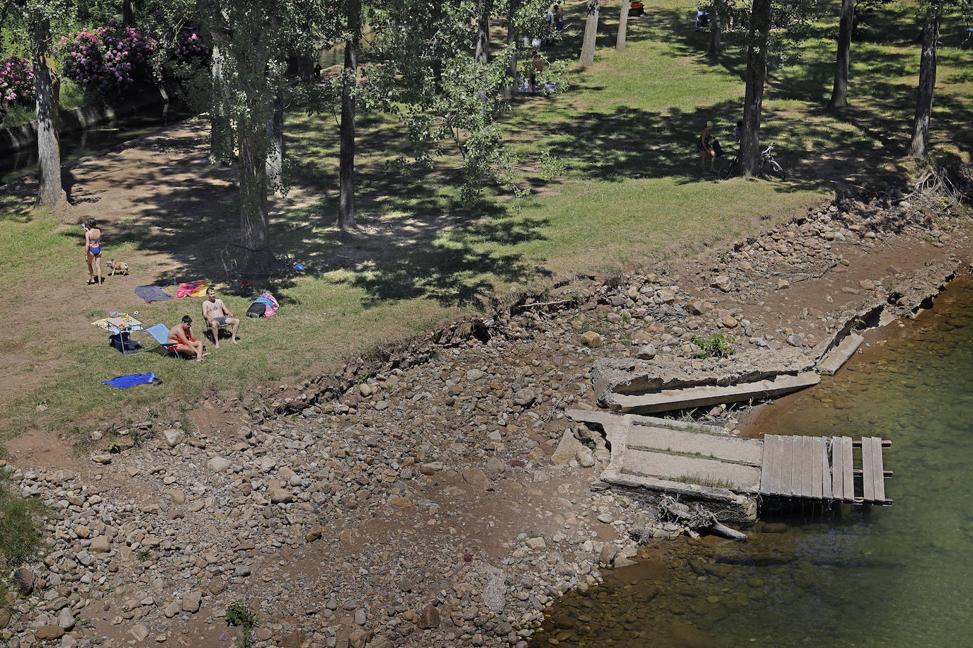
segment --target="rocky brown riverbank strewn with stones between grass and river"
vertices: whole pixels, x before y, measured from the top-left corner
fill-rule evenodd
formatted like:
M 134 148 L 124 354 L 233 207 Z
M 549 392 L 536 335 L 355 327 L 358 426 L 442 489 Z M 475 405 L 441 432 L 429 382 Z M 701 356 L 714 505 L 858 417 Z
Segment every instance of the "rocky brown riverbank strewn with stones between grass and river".
M 74 460 L 3 464 L 53 515 L 0 639 L 523 648 L 557 597 L 630 562 L 633 537 L 684 530 L 593 488 L 606 457 L 563 410 L 597 406 L 595 361 L 746 373 L 816 358 L 876 303 L 907 314 L 973 248 L 965 217 L 927 218 L 921 199 L 823 205 L 340 375 L 211 398 L 191 429 L 149 419 L 95 432 Z M 735 354 L 694 358 L 716 332 Z M 732 408 L 696 415 L 737 428 Z M 251 631 L 228 626 L 234 602 Z

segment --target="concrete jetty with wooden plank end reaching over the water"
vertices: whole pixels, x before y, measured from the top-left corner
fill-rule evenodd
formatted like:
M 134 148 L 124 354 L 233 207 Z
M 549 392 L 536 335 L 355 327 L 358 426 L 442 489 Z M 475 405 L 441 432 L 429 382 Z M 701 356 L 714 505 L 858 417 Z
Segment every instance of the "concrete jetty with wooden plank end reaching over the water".
M 600 474 L 609 484 L 713 498 L 765 495 L 854 504 L 891 504 L 885 496 L 883 448 L 877 436 L 767 434 L 763 441 L 730 436 L 714 426 L 638 415 L 567 410 L 596 424 L 611 449 Z M 595 427 L 597 429 L 597 427 Z M 861 449 L 861 468 L 853 449 Z

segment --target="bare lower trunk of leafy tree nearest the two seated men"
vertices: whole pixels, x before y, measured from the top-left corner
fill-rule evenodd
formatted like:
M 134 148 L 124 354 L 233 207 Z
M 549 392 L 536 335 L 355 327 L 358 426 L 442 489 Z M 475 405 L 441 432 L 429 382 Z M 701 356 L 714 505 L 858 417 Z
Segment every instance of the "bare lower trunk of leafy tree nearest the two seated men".
M 243 124 L 241 124 L 243 125 Z M 239 129 L 240 245 L 264 250 L 267 228 L 267 131 Z

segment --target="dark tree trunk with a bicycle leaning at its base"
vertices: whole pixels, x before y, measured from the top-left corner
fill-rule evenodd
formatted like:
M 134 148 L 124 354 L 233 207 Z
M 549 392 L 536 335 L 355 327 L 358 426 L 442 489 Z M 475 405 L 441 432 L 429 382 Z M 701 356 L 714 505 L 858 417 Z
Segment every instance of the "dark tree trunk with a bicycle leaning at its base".
M 767 39 L 771 27 L 771 0 L 753 0 L 749 45 L 746 50 L 746 93 L 743 98 L 743 132 L 739 140 L 740 173 L 749 178 L 757 171 L 760 155 L 760 118 L 767 78 Z

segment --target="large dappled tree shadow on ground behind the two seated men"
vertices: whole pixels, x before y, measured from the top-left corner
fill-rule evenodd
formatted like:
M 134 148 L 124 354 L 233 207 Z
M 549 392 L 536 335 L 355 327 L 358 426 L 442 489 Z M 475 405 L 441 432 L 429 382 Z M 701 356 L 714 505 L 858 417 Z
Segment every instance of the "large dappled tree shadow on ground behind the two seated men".
M 383 129 L 366 132 L 363 139 L 388 154 L 404 154 L 408 148 Z M 329 154 L 329 142 L 318 144 L 323 147 L 319 156 Z M 239 235 L 234 169 L 210 166 L 205 141 L 195 136 L 173 136 L 164 146 L 175 155 L 171 165 L 138 164 L 119 173 L 119 160 L 91 160 L 77 174 L 73 192 L 96 209 L 105 204 L 99 201 L 108 189 L 97 184 L 105 174 L 112 177 L 110 190 L 116 195 L 129 188 L 151 188 L 151 198 L 129 207 L 130 216 L 105 225 L 110 245 L 125 242 L 140 253 L 171 257 L 178 266 L 160 268 L 141 283 L 223 281 L 220 251 L 238 243 Z M 293 199 L 276 201 L 270 217 L 270 244 L 275 254 L 289 259 L 290 271 L 251 278 L 246 289 L 234 282 L 234 293 L 253 296 L 263 289 L 291 288 L 299 274 L 293 263 L 298 262 L 304 276 L 347 271 L 327 281 L 364 290 L 367 306 L 410 298 L 482 306 L 497 282 L 527 283 L 549 274 L 519 249 L 519 244 L 541 240 L 547 221 L 508 214 L 491 199 L 460 205 L 457 191 L 449 187 L 449 172 L 404 177 L 380 163 L 364 165 L 357 196 L 359 226 L 349 232 L 335 227 L 333 171 L 307 160 L 299 172 L 298 180 L 310 185 L 312 193 L 303 188 Z M 285 292 L 276 296 L 287 300 Z

